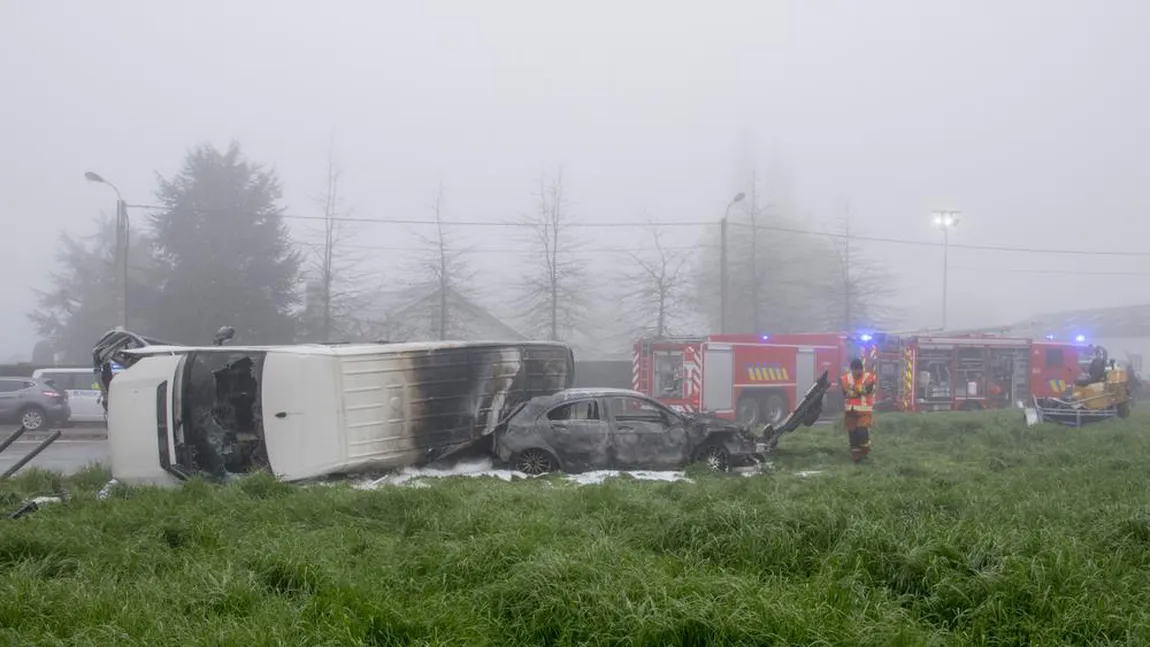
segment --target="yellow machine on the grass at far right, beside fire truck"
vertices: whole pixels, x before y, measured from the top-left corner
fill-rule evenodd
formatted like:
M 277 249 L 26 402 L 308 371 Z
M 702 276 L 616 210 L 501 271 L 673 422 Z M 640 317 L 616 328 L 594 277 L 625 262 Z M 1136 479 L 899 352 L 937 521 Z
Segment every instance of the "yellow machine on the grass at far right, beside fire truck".
M 1133 405 L 1129 368 L 1107 359 L 1106 349 L 1098 346 L 1087 371 L 1066 387 L 1061 398 L 1034 398 L 1034 409 L 1027 411 L 1027 422 L 1078 428 L 1113 417 L 1129 417 Z

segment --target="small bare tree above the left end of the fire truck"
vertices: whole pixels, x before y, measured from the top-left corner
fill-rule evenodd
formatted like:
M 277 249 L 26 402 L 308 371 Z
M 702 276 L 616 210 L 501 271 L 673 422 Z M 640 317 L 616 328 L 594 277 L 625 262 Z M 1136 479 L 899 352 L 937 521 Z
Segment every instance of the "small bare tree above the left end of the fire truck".
M 634 269 L 624 276 L 624 293 L 643 334 L 666 337 L 688 307 L 685 269 L 689 257 L 662 241 L 662 229 L 650 225 L 653 248 L 632 253 Z

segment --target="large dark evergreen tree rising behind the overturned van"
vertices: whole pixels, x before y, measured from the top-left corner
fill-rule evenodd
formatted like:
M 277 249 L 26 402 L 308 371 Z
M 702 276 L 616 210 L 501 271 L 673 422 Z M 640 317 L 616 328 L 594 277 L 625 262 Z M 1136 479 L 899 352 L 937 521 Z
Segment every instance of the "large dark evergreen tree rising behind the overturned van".
M 156 334 L 207 344 L 231 325 L 241 344 L 293 341 L 300 256 L 281 198 L 274 171 L 248 162 L 236 143 L 227 152 L 200 146 L 175 177 L 160 178 Z

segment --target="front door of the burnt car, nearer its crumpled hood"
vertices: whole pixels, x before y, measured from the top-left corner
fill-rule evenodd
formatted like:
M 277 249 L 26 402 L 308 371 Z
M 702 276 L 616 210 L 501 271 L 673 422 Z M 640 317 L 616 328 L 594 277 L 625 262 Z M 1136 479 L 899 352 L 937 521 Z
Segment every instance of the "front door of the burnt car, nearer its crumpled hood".
M 607 410 L 620 469 L 676 469 L 687 462 L 687 426 L 666 407 L 619 395 L 607 399 Z

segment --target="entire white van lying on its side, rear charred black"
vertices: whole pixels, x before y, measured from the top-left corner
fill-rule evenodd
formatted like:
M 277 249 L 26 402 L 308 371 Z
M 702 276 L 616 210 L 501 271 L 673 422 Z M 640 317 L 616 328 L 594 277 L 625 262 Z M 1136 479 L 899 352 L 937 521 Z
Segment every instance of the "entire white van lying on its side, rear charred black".
M 574 380 L 574 355 L 558 342 L 186 347 L 114 331 L 94 360 L 113 476 L 129 483 L 419 465 Z M 124 367 L 114 379 L 113 364 Z

